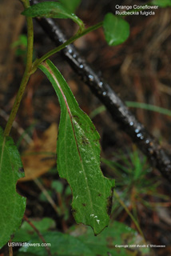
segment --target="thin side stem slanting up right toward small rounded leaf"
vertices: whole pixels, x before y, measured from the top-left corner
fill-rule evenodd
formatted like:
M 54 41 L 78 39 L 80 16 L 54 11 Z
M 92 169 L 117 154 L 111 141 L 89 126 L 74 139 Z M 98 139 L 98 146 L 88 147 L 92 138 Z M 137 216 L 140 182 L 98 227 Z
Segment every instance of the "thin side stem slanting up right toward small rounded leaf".
M 54 48 L 53 50 L 50 50 L 47 54 L 45 54 L 41 58 L 38 58 L 37 60 L 35 60 L 35 62 L 33 63 L 31 74 L 34 74 L 34 72 L 38 68 L 38 65 L 40 65 L 42 62 L 44 62 L 51 55 L 56 54 L 58 51 L 64 49 L 66 46 L 70 45 L 72 42 L 74 42 L 78 38 L 81 38 L 83 35 L 88 34 L 89 32 L 91 32 L 93 30 L 97 30 L 101 26 L 102 26 L 102 22 L 99 22 L 94 26 L 90 26 L 86 30 L 83 30 L 82 33 L 75 34 L 72 38 L 70 38 L 66 42 L 64 42 L 61 46 L 58 46 L 58 47 Z

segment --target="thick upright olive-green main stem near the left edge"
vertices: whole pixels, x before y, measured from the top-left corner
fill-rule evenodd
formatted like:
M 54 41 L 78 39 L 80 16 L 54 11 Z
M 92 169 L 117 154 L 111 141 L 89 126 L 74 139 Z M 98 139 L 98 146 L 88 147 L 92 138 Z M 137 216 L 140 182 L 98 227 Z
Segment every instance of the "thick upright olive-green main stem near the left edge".
M 30 6 L 29 0 L 21 0 L 21 2 L 23 3 L 23 6 L 25 7 L 25 9 Z M 20 84 L 18 94 L 15 98 L 13 109 L 11 110 L 10 117 L 8 119 L 8 122 L 6 123 L 4 136 L 8 136 L 10 134 L 10 130 L 12 128 L 14 118 L 16 117 L 16 114 L 18 112 L 18 107 L 19 107 L 20 102 L 22 100 L 22 95 L 24 94 L 27 82 L 29 81 L 29 78 L 30 78 L 30 70 L 31 70 L 31 67 L 32 67 L 32 59 L 33 59 L 34 28 L 33 28 L 32 18 L 27 17 L 26 22 L 27 22 L 26 69 L 25 69 L 24 75 L 22 77 L 22 82 Z

